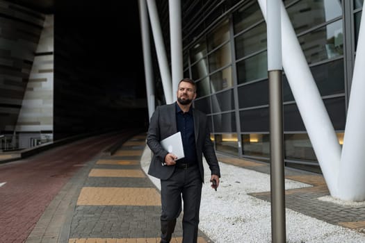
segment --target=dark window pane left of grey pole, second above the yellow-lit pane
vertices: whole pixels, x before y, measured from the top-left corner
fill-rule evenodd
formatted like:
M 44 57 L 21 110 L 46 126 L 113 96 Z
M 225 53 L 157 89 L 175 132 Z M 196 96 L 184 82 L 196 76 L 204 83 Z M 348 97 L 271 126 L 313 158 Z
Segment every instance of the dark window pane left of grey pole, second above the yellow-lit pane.
M 268 105 L 268 81 L 259 81 L 238 87 L 240 108 Z

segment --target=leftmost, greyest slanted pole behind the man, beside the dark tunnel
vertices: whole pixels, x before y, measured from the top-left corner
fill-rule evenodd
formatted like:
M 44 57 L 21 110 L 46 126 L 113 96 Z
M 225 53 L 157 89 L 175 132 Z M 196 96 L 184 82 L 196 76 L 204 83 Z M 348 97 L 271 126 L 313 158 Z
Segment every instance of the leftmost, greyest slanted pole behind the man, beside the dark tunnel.
M 153 85 L 153 68 L 151 59 L 151 47 L 149 42 L 149 23 L 148 12 L 145 0 L 138 0 L 138 7 L 140 12 L 140 33 L 142 37 L 143 48 L 143 62 L 145 66 L 145 82 L 146 82 L 146 94 L 147 94 L 147 107 L 149 118 L 152 117 L 154 112 L 154 85 Z

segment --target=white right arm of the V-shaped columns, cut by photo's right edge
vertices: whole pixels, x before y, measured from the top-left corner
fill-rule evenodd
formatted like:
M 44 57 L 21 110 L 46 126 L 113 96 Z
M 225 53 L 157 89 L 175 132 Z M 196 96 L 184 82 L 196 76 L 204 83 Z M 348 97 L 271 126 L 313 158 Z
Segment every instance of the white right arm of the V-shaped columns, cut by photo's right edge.
M 340 199 L 365 201 L 365 5 L 362 9 L 339 172 Z

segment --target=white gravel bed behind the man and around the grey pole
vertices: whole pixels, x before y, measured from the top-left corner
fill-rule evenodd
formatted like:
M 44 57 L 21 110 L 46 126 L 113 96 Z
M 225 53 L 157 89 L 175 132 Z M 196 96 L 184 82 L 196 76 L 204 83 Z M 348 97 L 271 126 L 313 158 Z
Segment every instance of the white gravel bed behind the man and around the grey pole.
M 146 146 L 141 167 L 147 174 L 151 152 Z M 270 203 L 248 195 L 270 191 L 270 176 L 234 165 L 220 163 L 221 181 L 217 192 L 210 187 L 210 171 L 204 162 L 199 228 L 215 243 L 271 242 Z M 149 176 L 160 189 L 159 179 Z M 285 188 L 308 187 L 285 180 Z M 303 215 L 286 208 L 286 242 L 365 242 L 365 234 Z

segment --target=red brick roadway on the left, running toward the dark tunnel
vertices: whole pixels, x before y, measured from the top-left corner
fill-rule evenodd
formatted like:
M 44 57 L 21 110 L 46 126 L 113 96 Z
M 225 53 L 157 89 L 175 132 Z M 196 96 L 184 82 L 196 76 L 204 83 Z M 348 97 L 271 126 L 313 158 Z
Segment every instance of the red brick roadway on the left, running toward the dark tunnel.
M 81 165 L 123 134 L 102 135 L 0 165 L 0 242 L 25 242 L 54 196 Z

